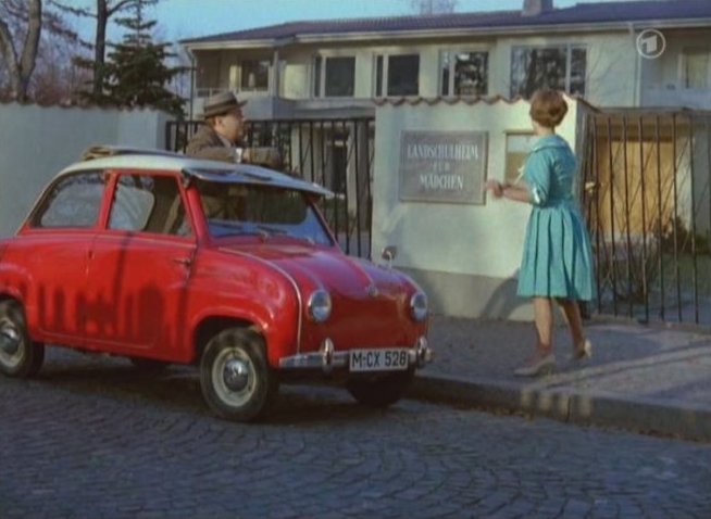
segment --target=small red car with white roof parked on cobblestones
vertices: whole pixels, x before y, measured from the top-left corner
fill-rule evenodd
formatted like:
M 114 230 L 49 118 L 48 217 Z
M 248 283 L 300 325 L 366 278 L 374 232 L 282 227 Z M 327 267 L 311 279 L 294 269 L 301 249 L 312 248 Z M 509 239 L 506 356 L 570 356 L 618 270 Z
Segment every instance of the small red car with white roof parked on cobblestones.
M 396 402 L 432 357 L 427 299 L 340 251 L 316 207 L 330 194 L 258 166 L 91 150 L 0 241 L 0 370 L 35 375 L 46 344 L 196 365 L 210 407 L 240 421 L 291 374 Z

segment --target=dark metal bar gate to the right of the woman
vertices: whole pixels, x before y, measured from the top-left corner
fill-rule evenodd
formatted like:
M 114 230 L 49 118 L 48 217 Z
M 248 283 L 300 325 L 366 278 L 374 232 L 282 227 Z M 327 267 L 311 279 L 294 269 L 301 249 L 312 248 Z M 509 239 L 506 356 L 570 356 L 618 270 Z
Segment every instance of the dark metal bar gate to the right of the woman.
M 582 150 L 597 312 L 711 325 L 711 114 L 589 113 Z

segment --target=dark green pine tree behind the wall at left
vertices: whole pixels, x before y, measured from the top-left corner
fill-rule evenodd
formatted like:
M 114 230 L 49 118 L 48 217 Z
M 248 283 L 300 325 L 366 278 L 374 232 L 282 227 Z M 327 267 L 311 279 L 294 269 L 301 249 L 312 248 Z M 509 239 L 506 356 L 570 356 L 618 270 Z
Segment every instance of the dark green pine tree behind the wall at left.
M 121 43 L 110 45 L 112 51 L 104 65 L 101 92 L 85 92 L 86 98 L 102 105 L 153 107 L 176 117 L 185 115 L 183 98 L 166 88 L 185 67 L 166 64 L 175 56 L 171 45 L 153 42 L 150 31 L 155 21 L 146 20 L 145 9 L 157 2 L 132 0 L 130 16 L 116 20 L 126 33 Z

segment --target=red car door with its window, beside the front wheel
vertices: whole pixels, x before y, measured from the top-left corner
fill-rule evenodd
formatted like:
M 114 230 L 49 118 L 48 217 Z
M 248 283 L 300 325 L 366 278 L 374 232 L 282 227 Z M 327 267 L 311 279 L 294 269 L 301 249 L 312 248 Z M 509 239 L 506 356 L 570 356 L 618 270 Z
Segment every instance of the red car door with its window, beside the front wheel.
M 185 324 L 196 238 L 177 175 L 120 173 L 93 241 L 86 319 L 93 347 L 170 359 Z M 150 351 L 150 352 L 149 352 Z

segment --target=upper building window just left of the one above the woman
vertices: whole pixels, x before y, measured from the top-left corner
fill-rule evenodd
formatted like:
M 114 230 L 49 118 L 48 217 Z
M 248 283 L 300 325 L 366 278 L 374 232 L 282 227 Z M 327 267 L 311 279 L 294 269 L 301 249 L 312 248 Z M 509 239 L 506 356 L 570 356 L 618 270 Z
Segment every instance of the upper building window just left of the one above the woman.
M 483 51 L 441 53 L 441 96 L 486 96 L 489 53 Z

